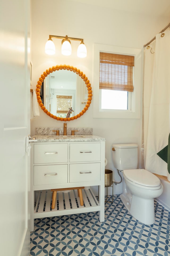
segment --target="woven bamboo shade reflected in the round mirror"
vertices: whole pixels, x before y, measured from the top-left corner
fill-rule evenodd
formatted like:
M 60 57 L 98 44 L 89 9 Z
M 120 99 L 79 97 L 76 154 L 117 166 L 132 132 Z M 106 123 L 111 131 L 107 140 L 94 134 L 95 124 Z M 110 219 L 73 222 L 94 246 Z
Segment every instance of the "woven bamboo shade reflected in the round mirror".
M 57 113 L 67 113 L 72 107 L 72 96 L 57 95 Z

